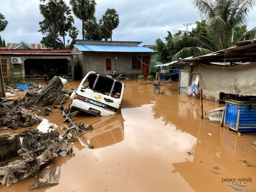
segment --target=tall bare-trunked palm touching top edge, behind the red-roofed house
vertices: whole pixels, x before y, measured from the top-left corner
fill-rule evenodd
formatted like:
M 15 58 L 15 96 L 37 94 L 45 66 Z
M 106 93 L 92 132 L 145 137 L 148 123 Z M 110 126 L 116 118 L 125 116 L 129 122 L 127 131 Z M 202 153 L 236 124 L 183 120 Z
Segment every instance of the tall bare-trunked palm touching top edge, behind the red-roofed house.
M 67 5 L 63 0 L 40 0 L 40 2 L 43 2 L 39 4 L 40 13 L 52 23 L 54 49 L 56 49 L 56 23 L 63 18 Z

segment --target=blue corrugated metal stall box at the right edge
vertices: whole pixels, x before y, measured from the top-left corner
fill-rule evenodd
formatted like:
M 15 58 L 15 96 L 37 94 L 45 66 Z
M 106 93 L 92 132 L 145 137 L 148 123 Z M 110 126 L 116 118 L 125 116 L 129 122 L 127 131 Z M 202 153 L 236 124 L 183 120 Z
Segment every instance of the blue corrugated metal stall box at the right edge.
M 256 103 L 225 100 L 224 124 L 237 132 L 256 131 Z

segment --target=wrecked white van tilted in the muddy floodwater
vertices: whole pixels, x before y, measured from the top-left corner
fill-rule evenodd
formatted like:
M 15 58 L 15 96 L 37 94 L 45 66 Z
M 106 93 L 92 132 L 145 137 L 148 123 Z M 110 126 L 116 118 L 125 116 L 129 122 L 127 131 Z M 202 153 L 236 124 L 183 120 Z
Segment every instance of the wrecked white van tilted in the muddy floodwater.
M 124 83 L 111 76 L 89 72 L 75 92 L 69 111 L 76 109 L 97 116 L 117 113 L 124 93 Z

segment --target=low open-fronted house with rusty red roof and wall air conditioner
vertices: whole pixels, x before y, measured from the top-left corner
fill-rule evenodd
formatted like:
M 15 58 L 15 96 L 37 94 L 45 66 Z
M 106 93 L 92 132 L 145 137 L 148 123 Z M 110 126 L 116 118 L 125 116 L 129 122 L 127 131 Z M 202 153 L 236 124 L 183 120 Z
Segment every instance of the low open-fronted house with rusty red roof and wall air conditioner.
M 41 48 L 37 49 L 35 44 L 32 45 L 21 42 L 0 50 L 4 83 L 10 82 L 18 74 L 24 74 L 26 81 L 37 82 L 53 76 L 74 79 L 72 50 L 44 49 L 41 45 L 37 45 Z

